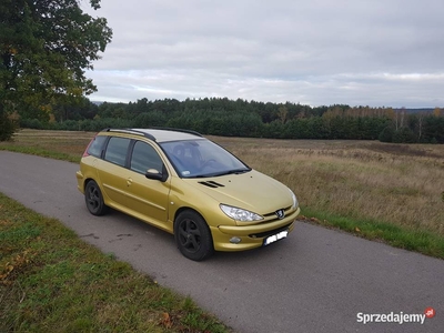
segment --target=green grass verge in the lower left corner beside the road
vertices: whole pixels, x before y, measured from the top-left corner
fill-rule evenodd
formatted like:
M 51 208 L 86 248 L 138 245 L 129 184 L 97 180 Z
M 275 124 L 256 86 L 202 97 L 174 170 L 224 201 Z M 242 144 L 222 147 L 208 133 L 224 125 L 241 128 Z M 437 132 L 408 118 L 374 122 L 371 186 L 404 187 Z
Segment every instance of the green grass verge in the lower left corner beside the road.
M 0 332 L 230 332 L 58 220 L 1 193 L 0 212 Z

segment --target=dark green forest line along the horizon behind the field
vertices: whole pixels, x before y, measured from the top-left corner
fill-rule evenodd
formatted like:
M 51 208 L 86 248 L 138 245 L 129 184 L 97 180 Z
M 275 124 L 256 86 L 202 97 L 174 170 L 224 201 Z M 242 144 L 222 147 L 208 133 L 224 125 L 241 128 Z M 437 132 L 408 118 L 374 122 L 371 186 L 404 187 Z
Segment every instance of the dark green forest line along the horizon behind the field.
M 73 131 L 171 127 L 224 137 L 444 143 L 444 117 L 438 108 L 412 113 L 404 108 L 310 107 L 228 98 L 97 104 L 84 98 L 48 110 L 18 112 L 20 125 Z

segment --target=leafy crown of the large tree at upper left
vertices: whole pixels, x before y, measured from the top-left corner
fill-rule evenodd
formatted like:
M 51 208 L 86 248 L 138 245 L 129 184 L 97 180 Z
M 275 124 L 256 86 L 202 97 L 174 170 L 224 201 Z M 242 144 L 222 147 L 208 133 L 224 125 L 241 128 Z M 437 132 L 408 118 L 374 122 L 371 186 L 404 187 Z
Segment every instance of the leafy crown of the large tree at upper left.
M 90 6 L 99 9 L 100 0 Z M 13 110 L 43 110 L 95 91 L 84 70 L 93 69 L 111 37 L 107 20 L 84 13 L 80 0 L 1 0 L 2 119 Z

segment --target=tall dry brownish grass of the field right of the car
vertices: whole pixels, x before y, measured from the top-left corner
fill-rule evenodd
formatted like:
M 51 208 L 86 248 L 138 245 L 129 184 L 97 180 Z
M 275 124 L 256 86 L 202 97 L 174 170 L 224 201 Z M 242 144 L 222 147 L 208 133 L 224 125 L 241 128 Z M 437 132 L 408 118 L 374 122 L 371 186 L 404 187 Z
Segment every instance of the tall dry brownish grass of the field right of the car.
M 444 145 L 212 138 L 302 206 L 444 235 Z

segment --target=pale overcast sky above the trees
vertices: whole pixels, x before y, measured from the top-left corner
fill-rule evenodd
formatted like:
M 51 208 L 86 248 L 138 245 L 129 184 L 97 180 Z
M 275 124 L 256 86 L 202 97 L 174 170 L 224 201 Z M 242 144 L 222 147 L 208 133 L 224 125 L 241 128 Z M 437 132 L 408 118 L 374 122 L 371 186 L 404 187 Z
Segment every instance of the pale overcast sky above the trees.
M 102 0 L 93 14 L 113 39 L 92 101 L 444 107 L 444 0 Z

